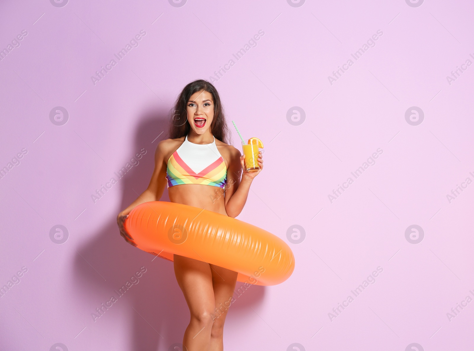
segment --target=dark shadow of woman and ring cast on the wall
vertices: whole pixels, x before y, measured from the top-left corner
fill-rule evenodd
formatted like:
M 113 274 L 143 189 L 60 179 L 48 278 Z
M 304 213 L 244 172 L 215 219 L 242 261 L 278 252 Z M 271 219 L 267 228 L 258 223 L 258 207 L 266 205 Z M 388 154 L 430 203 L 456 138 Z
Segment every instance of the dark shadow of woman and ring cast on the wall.
M 115 318 L 128 318 L 132 334 L 130 350 L 157 350 L 158 346 L 160 350 L 168 350 L 173 343 L 182 342 L 190 318 L 174 276 L 173 263 L 128 244 L 120 236 L 116 221 L 118 212 L 128 207 L 148 186 L 155 166 L 156 145 L 168 137 L 167 111 L 151 110 L 142 114 L 140 120 L 134 149 L 124 157 L 124 166 L 141 149 L 146 149 L 146 153 L 138 160 L 139 164 L 118 180 L 118 188 L 122 191 L 120 208 L 103 228 L 97 229 L 90 242 L 78 249 L 73 280 L 83 304 L 90 306 L 86 307 L 90 308 L 86 314 L 89 328 L 110 330 L 111 326 L 106 325 L 113 325 Z M 160 201 L 169 201 L 166 187 Z M 140 274 L 141 267 L 145 268 Z M 243 314 L 242 309 L 253 313 L 248 306 L 263 300 L 263 286 L 254 285 L 244 293 L 240 292 L 242 289 L 237 292 L 241 285 L 243 283 L 237 282 L 236 301 L 227 319 L 232 318 L 232 311 L 238 312 L 236 316 Z M 87 334 L 87 329 L 83 333 Z M 104 335 L 105 339 L 109 337 L 114 334 Z

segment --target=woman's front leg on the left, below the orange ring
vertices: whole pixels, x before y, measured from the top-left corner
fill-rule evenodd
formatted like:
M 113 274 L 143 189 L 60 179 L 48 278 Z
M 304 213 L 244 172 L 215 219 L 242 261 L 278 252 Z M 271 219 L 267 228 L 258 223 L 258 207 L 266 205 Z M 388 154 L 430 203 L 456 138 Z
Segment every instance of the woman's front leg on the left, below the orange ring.
M 209 263 L 173 255 L 174 274 L 191 313 L 183 337 L 184 351 L 208 351 L 214 319 L 214 291 Z

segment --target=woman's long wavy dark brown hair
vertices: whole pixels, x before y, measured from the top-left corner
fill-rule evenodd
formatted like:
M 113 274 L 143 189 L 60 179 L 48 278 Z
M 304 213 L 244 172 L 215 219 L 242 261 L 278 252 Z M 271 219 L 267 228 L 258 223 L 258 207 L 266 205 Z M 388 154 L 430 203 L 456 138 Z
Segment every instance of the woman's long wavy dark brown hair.
M 197 79 L 188 83 L 181 91 L 172 108 L 170 116 L 169 137 L 171 139 L 181 138 L 188 135 L 191 126 L 188 122 L 186 107 L 192 94 L 197 91 L 207 91 L 214 100 L 214 118 L 210 125 L 210 132 L 214 137 L 226 144 L 230 144 L 230 131 L 224 116 L 224 108 L 220 102 L 217 89 L 207 80 Z

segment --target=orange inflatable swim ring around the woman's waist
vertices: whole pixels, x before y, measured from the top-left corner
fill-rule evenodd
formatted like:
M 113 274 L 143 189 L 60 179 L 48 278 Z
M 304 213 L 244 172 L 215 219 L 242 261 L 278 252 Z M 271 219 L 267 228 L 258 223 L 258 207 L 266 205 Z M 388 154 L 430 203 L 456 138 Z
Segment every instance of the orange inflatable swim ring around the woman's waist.
M 226 215 L 175 202 L 135 207 L 124 223 L 135 246 L 173 261 L 173 254 L 238 273 L 237 281 L 276 285 L 294 269 L 290 247 L 264 229 Z

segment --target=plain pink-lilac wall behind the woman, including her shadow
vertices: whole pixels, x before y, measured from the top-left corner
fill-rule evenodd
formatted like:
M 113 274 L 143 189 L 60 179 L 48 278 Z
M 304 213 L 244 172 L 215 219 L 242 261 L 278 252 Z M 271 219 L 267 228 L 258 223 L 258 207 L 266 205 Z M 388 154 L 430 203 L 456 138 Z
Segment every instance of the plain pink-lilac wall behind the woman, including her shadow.
M 2 350 L 182 341 L 173 264 L 128 245 L 116 216 L 149 182 L 176 95 L 210 77 L 229 122 L 265 146 L 238 219 L 286 240 L 296 262 L 284 283 L 237 298 L 226 350 L 467 350 L 474 67 L 461 65 L 474 62 L 474 6 L 412 2 L 2 1 L 0 167 L 16 164 L 0 179 L 0 286 L 14 282 L 0 298 Z

